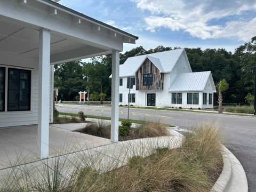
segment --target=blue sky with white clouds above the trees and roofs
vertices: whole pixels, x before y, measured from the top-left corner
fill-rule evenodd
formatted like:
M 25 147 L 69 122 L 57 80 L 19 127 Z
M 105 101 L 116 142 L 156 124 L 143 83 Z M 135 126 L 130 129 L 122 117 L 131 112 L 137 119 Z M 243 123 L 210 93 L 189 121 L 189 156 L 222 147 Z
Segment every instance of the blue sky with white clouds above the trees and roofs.
M 256 0 L 61 0 L 71 9 L 139 36 L 146 50 L 236 47 L 256 36 Z

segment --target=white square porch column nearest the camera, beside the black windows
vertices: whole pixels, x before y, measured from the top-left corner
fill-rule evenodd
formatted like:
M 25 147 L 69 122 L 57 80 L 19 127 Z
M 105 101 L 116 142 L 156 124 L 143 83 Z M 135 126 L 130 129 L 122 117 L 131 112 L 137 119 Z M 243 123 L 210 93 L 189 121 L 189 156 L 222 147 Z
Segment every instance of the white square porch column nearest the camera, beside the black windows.
M 39 158 L 49 157 L 50 30 L 39 30 L 38 130 Z

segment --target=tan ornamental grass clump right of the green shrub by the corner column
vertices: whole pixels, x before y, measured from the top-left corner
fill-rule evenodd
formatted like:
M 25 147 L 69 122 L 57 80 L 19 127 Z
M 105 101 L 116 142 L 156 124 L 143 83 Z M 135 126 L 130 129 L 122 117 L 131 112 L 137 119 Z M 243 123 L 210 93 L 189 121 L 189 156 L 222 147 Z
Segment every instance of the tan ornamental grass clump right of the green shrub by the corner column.
M 169 130 L 164 124 L 159 122 L 147 122 L 142 121 L 141 124 L 137 124 L 134 128 L 135 137 L 137 138 L 149 138 L 149 137 L 161 137 L 170 135 Z

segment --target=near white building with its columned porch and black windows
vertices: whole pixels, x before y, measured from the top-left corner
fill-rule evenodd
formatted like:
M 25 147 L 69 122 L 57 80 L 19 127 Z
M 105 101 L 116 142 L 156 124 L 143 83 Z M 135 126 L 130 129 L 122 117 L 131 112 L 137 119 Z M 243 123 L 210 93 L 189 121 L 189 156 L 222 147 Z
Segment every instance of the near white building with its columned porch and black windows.
M 38 124 L 39 158 L 49 156 L 56 63 L 112 54 L 111 141 L 118 141 L 119 52 L 138 39 L 56 2 L 0 0 L 0 128 Z

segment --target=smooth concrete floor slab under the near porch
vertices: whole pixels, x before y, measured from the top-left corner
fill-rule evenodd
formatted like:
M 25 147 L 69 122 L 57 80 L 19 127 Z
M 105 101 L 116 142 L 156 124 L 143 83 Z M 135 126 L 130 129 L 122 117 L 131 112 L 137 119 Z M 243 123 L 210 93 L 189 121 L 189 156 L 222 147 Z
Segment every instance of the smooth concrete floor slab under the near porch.
M 71 128 L 68 129 L 67 127 Z M 50 126 L 50 157 L 110 143 L 109 139 L 69 131 L 72 127 L 66 125 L 66 129 L 60 129 L 58 126 Z M 37 126 L 0 129 L 0 170 L 18 164 L 38 161 L 37 153 Z

